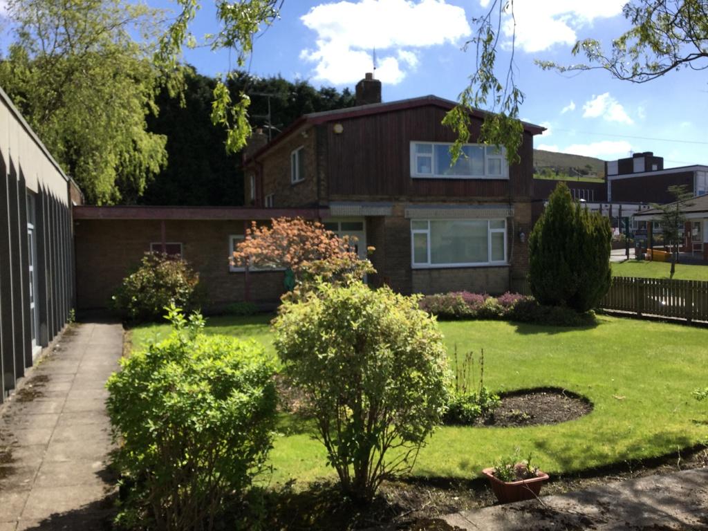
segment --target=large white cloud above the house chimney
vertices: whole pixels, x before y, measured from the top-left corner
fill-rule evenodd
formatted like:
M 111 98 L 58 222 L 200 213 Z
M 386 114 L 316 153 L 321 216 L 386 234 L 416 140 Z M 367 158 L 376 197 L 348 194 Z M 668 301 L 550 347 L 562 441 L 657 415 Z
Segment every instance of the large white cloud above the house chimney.
M 374 48 L 377 79 L 397 84 L 418 66 L 418 50 L 457 44 L 472 31 L 464 9 L 445 0 L 338 1 L 314 6 L 301 20 L 317 39 L 300 59 L 315 63 L 315 79 L 337 85 L 371 72 Z

